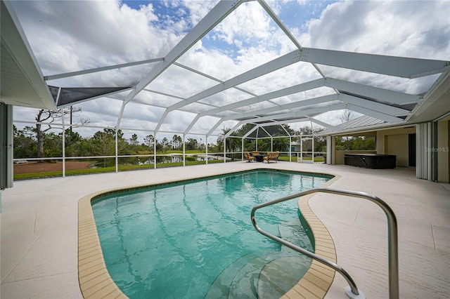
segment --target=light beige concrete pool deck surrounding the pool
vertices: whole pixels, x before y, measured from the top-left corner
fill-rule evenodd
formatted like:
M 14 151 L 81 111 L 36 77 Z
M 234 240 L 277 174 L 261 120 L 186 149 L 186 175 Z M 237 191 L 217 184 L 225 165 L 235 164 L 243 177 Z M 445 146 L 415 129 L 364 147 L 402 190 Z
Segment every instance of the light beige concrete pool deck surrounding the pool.
M 1 298 L 82 298 L 78 281 L 78 201 L 111 188 L 193 176 L 278 168 L 338 174 L 329 187 L 375 194 L 399 223 L 401 298 L 450 298 L 450 187 L 419 180 L 411 168 L 233 162 L 15 182 L 1 192 Z M 311 210 L 335 243 L 338 265 L 367 298 L 388 298 L 387 221 L 375 204 L 316 194 Z M 250 221 L 250 211 L 249 211 Z M 325 298 L 347 298 L 335 275 Z

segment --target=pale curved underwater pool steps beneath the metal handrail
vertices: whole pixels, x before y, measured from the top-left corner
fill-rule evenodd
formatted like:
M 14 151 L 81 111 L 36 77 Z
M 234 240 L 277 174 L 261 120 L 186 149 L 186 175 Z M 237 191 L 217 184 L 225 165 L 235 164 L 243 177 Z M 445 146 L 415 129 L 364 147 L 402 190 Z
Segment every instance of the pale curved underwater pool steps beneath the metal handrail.
M 283 239 L 302 246 L 299 229 L 298 219 L 278 226 Z M 250 253 L 226 267 L 205 298 L 279 298 L 301 279 L 310 264 L 309 258 L 290 248 Z

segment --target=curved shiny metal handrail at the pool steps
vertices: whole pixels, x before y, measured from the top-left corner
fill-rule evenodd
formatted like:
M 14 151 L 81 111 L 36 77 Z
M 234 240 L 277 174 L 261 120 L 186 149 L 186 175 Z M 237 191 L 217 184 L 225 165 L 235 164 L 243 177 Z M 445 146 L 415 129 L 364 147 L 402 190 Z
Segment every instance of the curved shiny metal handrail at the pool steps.
M 331 194 L 339 194 L 339 195 L 347 195 L 350 197 L 359 197 L 362 199 L 368 199 L 372 201 L 373 203 L 380 206 L 380 208 L 383 209 L 383 211 L 386 214 L 387 217 L 387 230 L 388 230 L 388 251 L 389 251 L 389 296 L 392 299 L 398 299 L 399 298 L 399 253 L 398 253 L 398 237 L 397 237 L 397 218 L 395 217 L 394 211 L 392 211 L 392 208 L 388 206 L 385 201 L 382 199 L 375 197 L 375 195 L 368 194 L 365 192 L 356 192 L 356 191 L 347 191 L 347 190 L 336 190 L 336 189 L 330 189 L 330 188 L 314 188 L 310 190 L 305 190 L 303 192 L 299 192 L 296 194 L 288 195 L 287 197 L 281 197 L 279 199 L 275 199 L 273 201 L 267 201 L 263 204 L 258 204 L 252 208 L 252 224 L 255 227 L 255 229 L 261 233 L 264 234 L 264 236 L 269 237 L 270 239 L 273 239 L 274 241 L 277 241 L 285 246 L 288 246 L 289 248 L 302 253 L 304 255 L 307 255 L 309 258 L 312 258 L 314 260 L 317 260 L 318 262 L 328 265 L 329 267 L 332 267 L 334 270 L 338 271 L 344 278 L 347 280 L 349 284 L 349 288 L 347 287 L 345 290 L 345 293 L 349 298 L 365 298 L 364 293 L 358 290 L 356 287 L 356 284 L 354 283 L 352 277 L 339 265 L 330 262 L 329 260 L 326 260 L 325 258 L 322 258 L 319 255 L 316 255 L 315 253 L 311 253 L 310 251 L 307 251 L 304 248 L 301 248 L 299 246 L 296 246 L 295 244 L 292 244 L 288 241 L 285 241 L 281 239 L 280 237 L 276 237 L 274 234 L 270 234 L 269 232 L 265 232 L 262 230 L 256 223 L 255 220 L 255 213 L 259 208 L 264 208 L 264 206 L 271 206 L 272 204 L 278 204 L 283 201 L 288 201 L 290 199 L 295 199 L 298 197 L 302 197 L 304 195 L 313 194 L 316 192 L 325 192 L 325 193 L 331 193 Z

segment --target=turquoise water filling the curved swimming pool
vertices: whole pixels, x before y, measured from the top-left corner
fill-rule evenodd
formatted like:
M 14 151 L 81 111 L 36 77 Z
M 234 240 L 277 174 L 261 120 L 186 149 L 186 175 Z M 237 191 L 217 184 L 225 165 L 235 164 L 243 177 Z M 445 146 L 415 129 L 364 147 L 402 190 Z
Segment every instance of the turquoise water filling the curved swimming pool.
M 271 298 L 311 261 L 256 232 L 256 204 L 330 177 L 250 171 L 106 195 L 92 203 L 111 277 L 129 298 Z M 263 208 L 258 224 L 312 251 L 297 200 Z

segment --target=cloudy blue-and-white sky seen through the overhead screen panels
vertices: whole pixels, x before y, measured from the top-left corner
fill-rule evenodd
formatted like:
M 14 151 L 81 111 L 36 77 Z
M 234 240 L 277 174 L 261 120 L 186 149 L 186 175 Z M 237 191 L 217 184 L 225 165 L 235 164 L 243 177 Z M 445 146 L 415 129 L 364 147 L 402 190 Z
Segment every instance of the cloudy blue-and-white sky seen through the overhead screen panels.
M 164 1 L 13 1 L 32 51 L 44 76 L 75 72 L 139 60 L 162 58 L 217 4 L 205 0 Z M 304 47 L 354 51 L 412 58 L 450 60 L 449 1 L 267 1 L 295 39 Z M 178 60 L 211 77 L 226 80 L 295 50 L 290 41 L 257 1 L 240 5 L 217 27 Z M 128 86 L 136 84 L 153 64 L 124 67 L 96 74 L 48 81 L 55 86 Z M 356 71 L 321 67 L 329 77 L 419 94 L 428 90 L 435 76 L 422 79 L 380 77 Z M 240 87 L 264 94 L 320 78 L 311 65 L 291 65 Z M 179 101 L 162 93 L 188 98 L 217 81 L 172 65 L 124 110 L 122 128 L 152 130 L 164 107 Z M 296 95 L 311 97 L 330 91 L 317 88 Z M 127 93 L 117 95 L 124 98 Z M 236 90 L 205 99 L 226 105 L 248 98 Z M 292 98 L 276 99 L 283 104 Z M 100 98 L 84 102 L 80 117 L 91 126 L 115 126 L 122 100 Z M 264 104 L 261 104 L 264 107 Z M 200 109 L 200 107 L 198 108 Z M 191 112 L 195 112 L 193 105 Z M 191 112 L 171 112 L 161 130 L 182 132 L 195 117 Z M 33 121 L 35 110 L 15 107 L 15 119 Z M 340 123 L 339 112 L 317 117 Z M 217 119 L 203 117 L 193 128 L 210 128 Z M 232 127 L 233 122 L 223 126 Z M 295 127 L 295 126 L 294 126 Z M 92 129 L 92 132 L 98 129 Z M 205 132 L 203 130 L 203 132 Z M 142 133 L 146 135 L 146 133 Z M 159 138 L 158 138 L 159 139 Z

